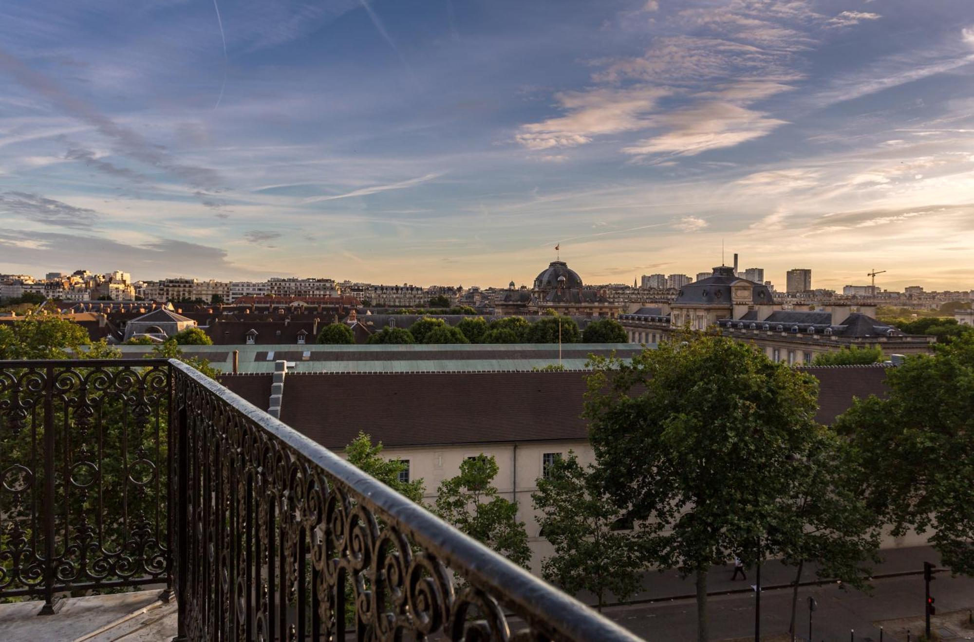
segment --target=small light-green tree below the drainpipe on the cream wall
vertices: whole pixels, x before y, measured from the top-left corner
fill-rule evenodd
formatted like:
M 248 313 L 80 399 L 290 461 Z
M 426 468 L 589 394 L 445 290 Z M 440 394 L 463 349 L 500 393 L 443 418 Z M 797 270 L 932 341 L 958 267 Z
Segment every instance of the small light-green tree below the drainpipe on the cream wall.
M 531 560 L 528 534 L 524 522 L 517 520 L 517 504 L 501 497 L 491 485 L 497 473 L 493 456 L 465 459 L 460 475 L 440 482 L 433 512 L 515 564 L 526 566 Z

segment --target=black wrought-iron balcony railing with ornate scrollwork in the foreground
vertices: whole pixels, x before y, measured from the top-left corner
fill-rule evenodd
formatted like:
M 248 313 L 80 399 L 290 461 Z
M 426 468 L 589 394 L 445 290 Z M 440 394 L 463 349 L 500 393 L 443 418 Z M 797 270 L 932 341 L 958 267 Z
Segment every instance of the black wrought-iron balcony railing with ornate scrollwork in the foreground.
M 638 639 L 181 362 L 0 362 L 0 622 L 157 597 L 151 639 Z

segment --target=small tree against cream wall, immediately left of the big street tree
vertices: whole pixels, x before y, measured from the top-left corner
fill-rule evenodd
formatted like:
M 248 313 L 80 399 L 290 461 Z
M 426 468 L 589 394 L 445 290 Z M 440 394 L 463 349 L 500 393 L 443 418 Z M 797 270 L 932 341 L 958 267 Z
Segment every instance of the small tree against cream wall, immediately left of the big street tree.
M 575 594 L 595 594 L 601 612 L 607 591 L 625 600 L 639 590 L 643 562 L 631 530 L 622 530 L 625 512 L 609 497 L 600 471 L 581 467 L 574 452 L 557 460 L 532 493 L 544 539 L 554 555 L 542 562 L 548 582 Z

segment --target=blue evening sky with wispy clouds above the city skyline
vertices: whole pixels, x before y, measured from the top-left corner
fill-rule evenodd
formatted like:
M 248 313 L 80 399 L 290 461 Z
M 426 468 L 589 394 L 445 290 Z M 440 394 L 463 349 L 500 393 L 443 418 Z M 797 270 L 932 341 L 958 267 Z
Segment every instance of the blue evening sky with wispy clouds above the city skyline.
M 974 288 L 971 0 L 7 0 L 0 272 Z

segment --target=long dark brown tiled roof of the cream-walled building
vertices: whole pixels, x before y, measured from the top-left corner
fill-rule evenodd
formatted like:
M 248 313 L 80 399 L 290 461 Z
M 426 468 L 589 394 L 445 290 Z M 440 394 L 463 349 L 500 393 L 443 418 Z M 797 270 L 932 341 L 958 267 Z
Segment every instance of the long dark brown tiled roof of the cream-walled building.
M 820 383 L 816 419 L 832 423 L 852 398 L 884 394 L 880 367 L 807 368 Z M 584 373 L 289 374 L 281 421 L 322 446 L 359 430 L 386 446 L 579 440 Z M 271 375 L 224 375 L 224 385 L 266 409 Z

